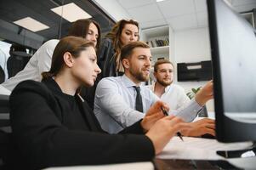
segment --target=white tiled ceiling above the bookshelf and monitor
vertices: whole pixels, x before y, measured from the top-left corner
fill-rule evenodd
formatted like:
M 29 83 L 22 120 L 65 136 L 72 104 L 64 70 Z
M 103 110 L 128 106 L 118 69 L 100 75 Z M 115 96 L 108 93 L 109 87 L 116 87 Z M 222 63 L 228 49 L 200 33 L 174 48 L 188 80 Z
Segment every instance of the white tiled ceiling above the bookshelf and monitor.
M 105 1 L 116 2 L 138 20 L 141 28 L 170 25 L 174 31 L 208 26 L 206 0 L 94 0 L 104 8 Z M 256 8 L 256 0 L 228 0 L 238 12 Z M 108 11 L 115 13 L 116 11 Z

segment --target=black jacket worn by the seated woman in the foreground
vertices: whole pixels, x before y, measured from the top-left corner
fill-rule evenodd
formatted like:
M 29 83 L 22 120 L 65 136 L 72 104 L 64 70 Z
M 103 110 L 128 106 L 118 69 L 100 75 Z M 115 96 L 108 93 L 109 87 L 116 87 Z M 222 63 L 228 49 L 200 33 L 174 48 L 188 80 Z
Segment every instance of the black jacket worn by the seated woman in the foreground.
M 150 161 L 151 140 L 145 135 L 105 133 L 86 102 L 76 96 L 84 123 L 70 126 L 71 108 L 53 79 L 25 81 L 10 96 L 13 142 L 26 169 Z M 71 117 L 74 121 L 74 117 Z M 75 119 L 76 121 L 76 119 Z M 79 124 L 80 123 L 80 124 Z M 122 133 L 143 133 L 140 123 Z

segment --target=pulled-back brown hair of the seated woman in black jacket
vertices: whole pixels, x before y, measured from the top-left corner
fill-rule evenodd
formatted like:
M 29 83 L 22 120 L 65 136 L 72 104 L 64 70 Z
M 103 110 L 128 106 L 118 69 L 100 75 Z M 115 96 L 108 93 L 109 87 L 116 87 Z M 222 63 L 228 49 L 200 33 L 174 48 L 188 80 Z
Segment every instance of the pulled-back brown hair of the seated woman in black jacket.
M 60 42 L 54 49 L 50 70 L 42 73 L 43 79 L 48 77 L 54 77 L 61 71 L 61 69 L 65 65 L 63 55 L 66 52 L 71 53 L 74 58 L 77 58 L 79 57 L 80 53 L 83 50 L 86 50 L 88 47 L 94 48 L 94 42 L 86 41 L 82 37 L 69 36 L 60 39 Z

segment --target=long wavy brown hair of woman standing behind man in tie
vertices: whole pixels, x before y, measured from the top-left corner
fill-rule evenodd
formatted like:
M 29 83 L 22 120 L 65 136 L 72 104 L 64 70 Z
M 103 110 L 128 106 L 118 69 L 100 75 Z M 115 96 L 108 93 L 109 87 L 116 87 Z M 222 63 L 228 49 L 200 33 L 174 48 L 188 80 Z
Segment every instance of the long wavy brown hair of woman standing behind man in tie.
M 121 42 L 121 34 L 122 29 L 125 25 L 132 24 L 138 27 L 139 30 L 139 23 L 135 20 L 119 20 L 115 26 L 112 27 L 111 31 L 105 36 L 112 40 L 113 47 L 115 48 L 116 54 L 115 57 L 121 53 L 122 42 Z

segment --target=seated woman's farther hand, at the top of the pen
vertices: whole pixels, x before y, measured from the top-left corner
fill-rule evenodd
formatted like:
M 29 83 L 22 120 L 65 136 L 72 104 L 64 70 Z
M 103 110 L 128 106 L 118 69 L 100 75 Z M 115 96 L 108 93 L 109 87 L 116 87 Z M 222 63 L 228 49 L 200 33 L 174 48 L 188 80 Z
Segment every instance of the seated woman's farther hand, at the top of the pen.
M 156 121 L 161 119 L 164 115 L 162 113 L 161 107 L 163 107 L 166 111 L 169 110 L 169 107 L 166 103 L 158 100 L 151 108 L 145 113 L 145 117 L 141 121 L 141 127 L 147 132 Z

